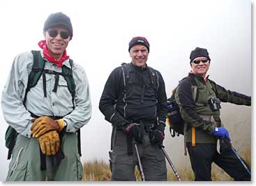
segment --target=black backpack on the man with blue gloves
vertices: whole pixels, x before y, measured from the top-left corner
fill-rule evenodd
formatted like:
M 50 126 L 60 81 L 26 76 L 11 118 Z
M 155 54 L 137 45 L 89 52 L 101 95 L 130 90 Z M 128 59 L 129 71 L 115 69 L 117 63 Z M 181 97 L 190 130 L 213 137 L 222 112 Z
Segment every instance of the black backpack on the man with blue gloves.
M 188 76 L 181 79 L 181 81 L 183 81 L 184 79 L 188 79 L 188 81 L 190 82 L 193 88 L 193 91 L 192 91 L 193 99 L 196 101 L 198 98 L 198 93 L 197 93 L 197 83 L 195 82 L 195 79 L 193 77 Z M 183 121 L 183 118 L 179 111 L 179 106 L 178 104 L 176 104 L 176 100 L 175 100 L 176 88 L 174 88 L 174 90 L 172 91 L 171 98 L 168 98 L 167 100 L 167 108 L 168 108 L 167 123 L 170 126 L 170 133 L 172 137 L 175 137 L 175 136 L 179 137 L 179 134 L 184 135 L 184 125 L 185 125 L 185 122 Z

